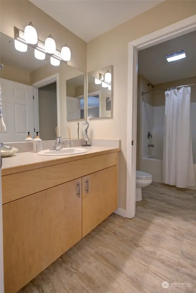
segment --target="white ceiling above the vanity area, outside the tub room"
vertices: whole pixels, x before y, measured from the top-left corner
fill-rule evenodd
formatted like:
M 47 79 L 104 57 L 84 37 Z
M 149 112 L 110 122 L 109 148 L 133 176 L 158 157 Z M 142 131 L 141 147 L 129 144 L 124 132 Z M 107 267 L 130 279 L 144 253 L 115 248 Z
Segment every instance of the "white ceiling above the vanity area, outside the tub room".
M 156 0 L 30 1 L 85 42 L 163 2 Z

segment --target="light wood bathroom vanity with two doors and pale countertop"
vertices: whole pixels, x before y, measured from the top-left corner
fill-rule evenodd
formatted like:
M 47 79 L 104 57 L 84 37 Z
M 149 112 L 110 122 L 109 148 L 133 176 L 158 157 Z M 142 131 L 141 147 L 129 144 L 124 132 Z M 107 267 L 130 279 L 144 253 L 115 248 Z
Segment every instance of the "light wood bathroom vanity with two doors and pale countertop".
M 119 151 L 3 159 L 5 293 L 16 293 L 116 210 Z

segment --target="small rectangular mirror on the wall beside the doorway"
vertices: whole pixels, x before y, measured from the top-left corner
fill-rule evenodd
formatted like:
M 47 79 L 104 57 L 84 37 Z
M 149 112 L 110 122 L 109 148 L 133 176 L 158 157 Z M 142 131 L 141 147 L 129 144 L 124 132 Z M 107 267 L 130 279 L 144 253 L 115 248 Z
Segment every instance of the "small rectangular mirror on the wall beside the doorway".
M 88 118 L 112 117 L 112 65 L 88 72 Z

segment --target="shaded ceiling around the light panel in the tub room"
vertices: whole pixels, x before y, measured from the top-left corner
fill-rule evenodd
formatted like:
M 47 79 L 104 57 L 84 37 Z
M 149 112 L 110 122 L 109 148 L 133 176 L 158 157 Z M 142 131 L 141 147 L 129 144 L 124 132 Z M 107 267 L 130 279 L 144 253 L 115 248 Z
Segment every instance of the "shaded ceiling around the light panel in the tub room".
M 165 54 L 186 50 L 186 58 L 168 62 Z M 138 74 L 153 84 L 196 76 L 196 31 L 138 52 Z

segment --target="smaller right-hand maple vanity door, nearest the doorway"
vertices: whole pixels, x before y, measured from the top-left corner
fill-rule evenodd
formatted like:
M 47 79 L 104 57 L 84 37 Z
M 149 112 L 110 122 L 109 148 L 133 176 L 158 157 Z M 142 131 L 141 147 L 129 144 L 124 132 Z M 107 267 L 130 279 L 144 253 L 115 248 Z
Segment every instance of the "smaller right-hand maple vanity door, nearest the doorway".
M 82 177 L 82 237 L 116 208 L 117 166 Z

